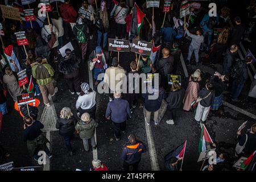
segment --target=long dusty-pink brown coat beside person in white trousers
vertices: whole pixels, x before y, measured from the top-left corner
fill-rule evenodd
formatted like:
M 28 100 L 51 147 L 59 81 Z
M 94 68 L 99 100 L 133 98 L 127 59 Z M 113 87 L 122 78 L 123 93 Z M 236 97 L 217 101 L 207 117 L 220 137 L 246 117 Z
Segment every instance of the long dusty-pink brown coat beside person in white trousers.
M 199 83 L 191 81 L 191 77 L 189 78 L 189 84 L 187 90 L 185 92 L 185 97 L 183 100 L 183 109 L 189 111 L 191 109 L 191 104 L 193 101 L 197 99 L 197 94 L 200 90 Z

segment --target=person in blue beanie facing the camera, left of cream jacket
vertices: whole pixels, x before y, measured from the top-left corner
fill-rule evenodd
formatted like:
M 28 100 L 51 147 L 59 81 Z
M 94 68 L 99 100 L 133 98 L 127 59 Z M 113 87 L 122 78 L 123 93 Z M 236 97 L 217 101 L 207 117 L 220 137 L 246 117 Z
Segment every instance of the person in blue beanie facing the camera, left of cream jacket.
M 98 75 L 105 73 L 105 69 L 108 68 L 109 53 L 102 50 L 100 46 L 97 46 L 95 50 L 89 55 L 89 65 L 93 69 L 93 78 L 95 85 L 98 85 L 102 80 L 98 80 Z

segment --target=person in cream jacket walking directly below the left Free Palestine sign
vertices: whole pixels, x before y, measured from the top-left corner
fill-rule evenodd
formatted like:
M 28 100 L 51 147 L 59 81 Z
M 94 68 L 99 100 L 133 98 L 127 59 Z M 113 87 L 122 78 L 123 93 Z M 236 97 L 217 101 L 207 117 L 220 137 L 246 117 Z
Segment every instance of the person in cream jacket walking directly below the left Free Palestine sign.
M 113 93 L 115 90 L 122 90 L 123 78 L 126 76 L 125 70 L 119 66 L 117 57 L 114 57 L 112 60 L 112 67 L 106 69 L 104 75 L 104 84 L 108 85 L 109 88 L 109 101 L 113 100 Z M 119 85 L 119 88 L 117 86 Z

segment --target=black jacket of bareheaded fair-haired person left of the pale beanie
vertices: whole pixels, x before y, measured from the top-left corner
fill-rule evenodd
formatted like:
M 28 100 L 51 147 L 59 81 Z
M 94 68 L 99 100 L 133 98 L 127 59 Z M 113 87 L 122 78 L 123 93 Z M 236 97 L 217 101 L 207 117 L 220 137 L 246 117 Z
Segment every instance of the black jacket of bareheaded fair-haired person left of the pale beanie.
M 75 133 L 75 125 L 77 121 L 75 117 L 70 119 L 58 118 L 56 122 L 56 129 L 59 129 L 61 136 L 70 136 Z

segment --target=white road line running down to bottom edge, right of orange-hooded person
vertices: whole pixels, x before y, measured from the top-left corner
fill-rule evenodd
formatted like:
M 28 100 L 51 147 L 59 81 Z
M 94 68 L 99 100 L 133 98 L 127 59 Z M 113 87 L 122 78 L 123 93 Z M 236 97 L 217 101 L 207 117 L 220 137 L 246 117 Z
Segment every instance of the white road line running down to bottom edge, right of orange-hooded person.
M 156 150 L 155 150 L 155 144 L 154 144 L 154 139 L 152 137 L 152 131 L 150 125 L 147 125 L 145 121 L 145 126 L 146 126 L 146 134 L 147 134 L 147 143 L 148 143 L 148 152 L 150 154 L 150 163 L 151 163 L 151 168 L 152 171 L 159 171 L 159 164 L 158 164 L 158 159 L 156 155 Z

